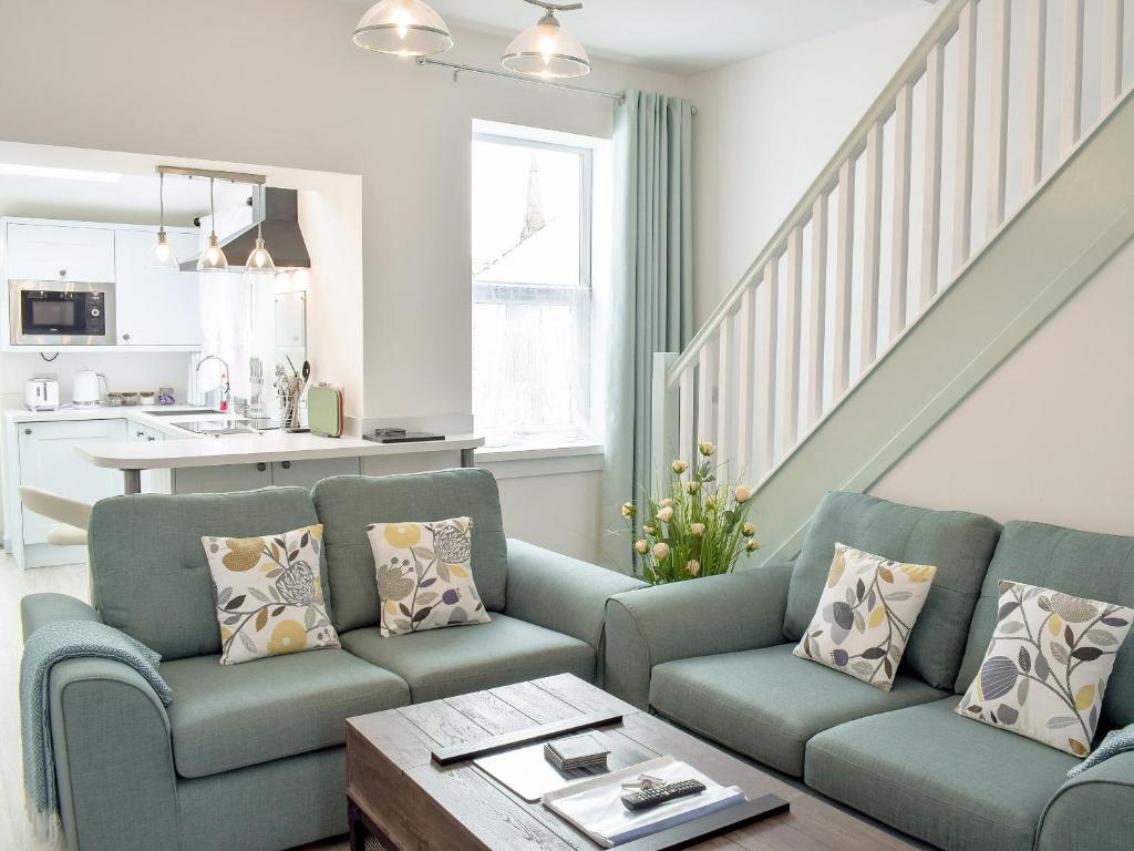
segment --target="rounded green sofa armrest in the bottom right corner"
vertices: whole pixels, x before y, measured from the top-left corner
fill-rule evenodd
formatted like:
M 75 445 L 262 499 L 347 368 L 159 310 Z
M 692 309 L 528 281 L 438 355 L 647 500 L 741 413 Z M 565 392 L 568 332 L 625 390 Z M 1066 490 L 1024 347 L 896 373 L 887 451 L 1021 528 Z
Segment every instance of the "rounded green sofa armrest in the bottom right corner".
M 1134 752 L 1118 753 L 1064 783 L 1036 828 L 1036 851 L 1124 851 L 1134 836 Z

